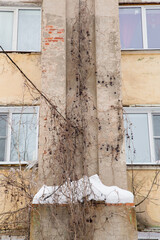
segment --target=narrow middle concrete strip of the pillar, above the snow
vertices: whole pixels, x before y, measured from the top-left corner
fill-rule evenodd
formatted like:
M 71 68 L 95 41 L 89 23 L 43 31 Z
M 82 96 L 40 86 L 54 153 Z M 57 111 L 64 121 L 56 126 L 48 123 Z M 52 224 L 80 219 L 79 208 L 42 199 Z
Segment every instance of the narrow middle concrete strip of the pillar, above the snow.
M 74 153 L 77 177 L 98 172 L 94 0 L 67 0 L 67 116 L 82 132 Z

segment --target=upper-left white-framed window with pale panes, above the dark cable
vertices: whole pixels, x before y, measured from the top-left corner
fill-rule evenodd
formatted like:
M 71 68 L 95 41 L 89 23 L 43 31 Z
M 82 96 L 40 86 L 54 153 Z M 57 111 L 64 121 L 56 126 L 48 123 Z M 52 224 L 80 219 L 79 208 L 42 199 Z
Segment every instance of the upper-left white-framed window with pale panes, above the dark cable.
M 0 8 L 0 46 L 5 51 L 39 52 L 39 8 Z

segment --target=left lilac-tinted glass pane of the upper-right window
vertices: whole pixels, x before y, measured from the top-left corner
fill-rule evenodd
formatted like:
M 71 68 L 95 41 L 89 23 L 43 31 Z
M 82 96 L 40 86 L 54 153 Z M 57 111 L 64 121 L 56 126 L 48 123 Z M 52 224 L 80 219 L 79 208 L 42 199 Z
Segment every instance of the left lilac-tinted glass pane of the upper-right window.
M 120 8 L 119 18 L 121 48 L 143 48 L 141 8 Z

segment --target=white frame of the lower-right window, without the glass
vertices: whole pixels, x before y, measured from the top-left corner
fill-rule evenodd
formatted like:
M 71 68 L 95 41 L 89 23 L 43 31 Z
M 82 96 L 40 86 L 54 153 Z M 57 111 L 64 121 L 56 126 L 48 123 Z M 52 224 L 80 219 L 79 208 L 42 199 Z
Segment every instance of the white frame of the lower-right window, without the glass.
M 151 162 L 147 163 L 127 163 L 127 165 L 153 165 L 160 164 L 160 160 L 155 160 L 155 147 L 154 147 L 154 136 L 153 136 L 153 121 L 152 115 L 158 114 L 160 115 L 160 107 L 124 107 L 124 115 L 126 114 L 143 114 L 146 113 L 148 116 L 148 134 L 149 134 L 149 147 L 150 147 L 150 159 Z

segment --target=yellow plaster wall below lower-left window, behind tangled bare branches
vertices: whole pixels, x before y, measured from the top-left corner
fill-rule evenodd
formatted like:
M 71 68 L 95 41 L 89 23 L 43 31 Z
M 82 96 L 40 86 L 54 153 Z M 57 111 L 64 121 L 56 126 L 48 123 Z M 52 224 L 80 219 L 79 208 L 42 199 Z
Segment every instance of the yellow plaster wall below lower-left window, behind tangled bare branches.
M 0 167 L 0 234 L 24 234 L 29 227 L 29 206 L 37 192 L 36 169 Z

